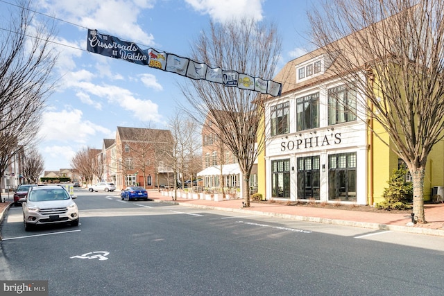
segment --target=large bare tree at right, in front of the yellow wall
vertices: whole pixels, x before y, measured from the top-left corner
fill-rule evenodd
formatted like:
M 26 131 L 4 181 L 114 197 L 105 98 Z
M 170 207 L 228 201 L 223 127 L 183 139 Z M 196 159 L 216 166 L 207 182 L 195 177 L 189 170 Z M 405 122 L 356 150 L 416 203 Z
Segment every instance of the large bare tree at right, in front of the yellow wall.
M 312 39 L 332 73 L 366 96 L 357 106 L 413 177 L 413 213 L 424 214 L 427 157 L 444 131 L 444 2 L 333 0 L 313 10 Z M 359 103 L 359 102 L 358 102 Z

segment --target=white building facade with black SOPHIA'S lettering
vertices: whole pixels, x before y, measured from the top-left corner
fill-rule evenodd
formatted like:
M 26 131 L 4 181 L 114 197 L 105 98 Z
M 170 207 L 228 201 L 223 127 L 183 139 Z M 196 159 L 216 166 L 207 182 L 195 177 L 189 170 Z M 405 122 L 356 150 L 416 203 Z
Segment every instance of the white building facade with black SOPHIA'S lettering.
M 352 85 L 316 79 L 327 65 L 293 61 L 294 87 L 266 102 L 268 200 L 367 204 L 367 126 L 356 109 L 363 98 Z

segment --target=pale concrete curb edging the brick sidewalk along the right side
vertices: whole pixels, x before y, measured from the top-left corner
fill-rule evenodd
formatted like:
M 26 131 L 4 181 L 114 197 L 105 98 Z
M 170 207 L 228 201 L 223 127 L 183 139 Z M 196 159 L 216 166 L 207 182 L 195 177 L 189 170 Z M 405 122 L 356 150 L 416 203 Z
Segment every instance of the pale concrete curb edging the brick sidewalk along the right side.
M 343 226 L 351 226 L 351 227 L 361 227 L 368 229 L 381 229 L 381 230 L 391 230 L 394 232 L 407 232 L 411 234 L 425 234 L 429 236 L 444 236 L 444 230 L 441 229 L 429 229 L 429 228 L 421 228 L 421 227 L 408 227 L 408 226 L 400 226 L 400 225 L 386 225 L 379 223 L 368 223 L 368 222 L 355 222 L 348 220 L 338 220 L 338 219 L 330 219 L 330 218 L 319 218 L 319 217 L 306 217 L 306 216 L 297 216 L 291 214 L 280 214 L 280 213 L 271 213 L 264 211 L 252 211 L 246 209 L 232 209 L 225 207 L 214 207 L 207 206 L 202 204 L 190 204 L 187 202 L 177 202 L 177 201 L 169 201 L 169 200 L 154 200 L 155 202 L 164 202 L 169 204 L 177 204 L 187 207 L 195 207 L 198 209 L 214 209 L 217 211 L 230 211 L 233 213 L 242 213 L 242 214 L 254 214 L 257 216 L 268 216 L 268 217 L 276 217 L 276 218 L 284 218 L 289 220 L 298 220 L 298 221 L 307 221 L 314 223 L 323 223 L 323 224 L 332 224 L 332 225 L 343 225 Z

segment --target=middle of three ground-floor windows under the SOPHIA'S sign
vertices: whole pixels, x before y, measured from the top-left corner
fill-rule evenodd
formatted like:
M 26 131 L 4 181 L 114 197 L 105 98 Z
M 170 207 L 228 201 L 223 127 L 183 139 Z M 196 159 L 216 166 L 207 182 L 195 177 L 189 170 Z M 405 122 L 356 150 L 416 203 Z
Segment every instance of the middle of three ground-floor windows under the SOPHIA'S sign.
M 319 200 L 319 157 L 298 157 L 298 199 Z

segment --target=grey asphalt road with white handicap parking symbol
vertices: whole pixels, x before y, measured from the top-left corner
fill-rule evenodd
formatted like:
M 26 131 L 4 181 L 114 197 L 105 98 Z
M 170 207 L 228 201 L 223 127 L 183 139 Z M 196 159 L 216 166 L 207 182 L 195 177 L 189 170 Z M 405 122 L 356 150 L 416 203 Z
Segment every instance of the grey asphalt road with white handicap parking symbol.
M 444 238 L 76 189 L 78 227 L 3 221 L 0 279 L 49 295 L 443 295 Z

